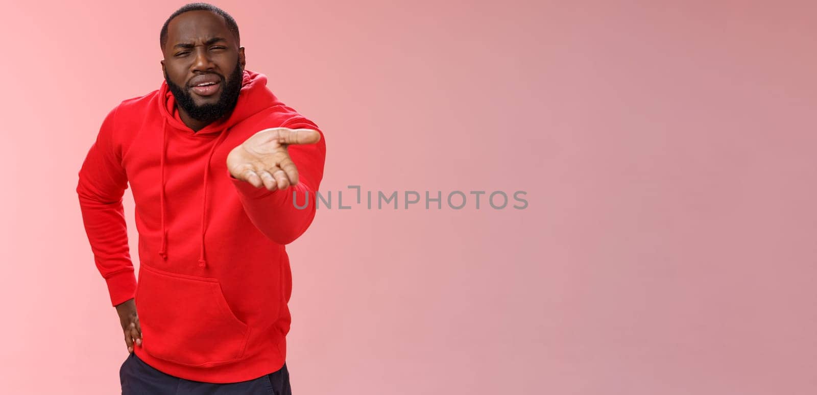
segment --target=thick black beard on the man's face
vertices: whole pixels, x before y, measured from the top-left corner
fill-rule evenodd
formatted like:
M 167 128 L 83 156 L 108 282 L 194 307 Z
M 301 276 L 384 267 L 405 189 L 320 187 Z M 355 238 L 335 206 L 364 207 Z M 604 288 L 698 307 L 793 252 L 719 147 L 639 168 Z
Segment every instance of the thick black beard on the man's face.
M 167 82 L 167 88 L 170 89 L 173 97 L 176 98 L 176 105 L 185 110 L 190 118 L 199 122 L 207 122 L 208 124 L 225 116 L 230 116 L 230 113 L 235 109 L 235 104 L 239 101 L 239 93 L 241 92 L 241 82 L 243 80 L 244 70 L 241 64 L 236 64 L 235 69 L 230 78 L 225 81 L 224 76 L 218 75 L 221 78 L 221 86 L 224 90 L 221 91 L 221 97 L 216 103 L 196 105 L 193 101 L 193 95 L 190 94 L 190 88 L 183 89 L 182 87 L 173 83 L 167 77 L 167 71 L 164 72 L 164 80 Z

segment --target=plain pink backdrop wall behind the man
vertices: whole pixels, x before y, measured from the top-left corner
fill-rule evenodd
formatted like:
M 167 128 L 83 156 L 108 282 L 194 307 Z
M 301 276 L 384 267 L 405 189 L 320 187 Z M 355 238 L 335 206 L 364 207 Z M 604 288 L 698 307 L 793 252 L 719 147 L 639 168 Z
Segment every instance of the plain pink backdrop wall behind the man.
M 528 193 L 319 211 L 295 393 L 817 393 L 817 7 L 674 3 L 217 2 L 326 133 L 323 191 Z M 118 393 L 74 188 L 181 4 L 3 6 L 0 393 Z

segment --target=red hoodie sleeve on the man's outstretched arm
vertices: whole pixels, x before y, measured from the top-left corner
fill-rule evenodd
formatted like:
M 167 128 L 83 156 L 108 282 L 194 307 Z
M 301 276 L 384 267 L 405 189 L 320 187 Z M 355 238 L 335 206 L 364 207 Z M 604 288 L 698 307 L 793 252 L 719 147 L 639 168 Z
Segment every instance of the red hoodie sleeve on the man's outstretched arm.
M 287 148 L 289 158 L 298 168 L 298 184 L 288 189 L 270 191 L 233 177 L 229 170 L 227 176 L 238 191 L 252 224 L 273 242 L 289 244 L 306 232 L 315 219 L 315 193 L 324 178 L 326 142 L 324 132 L 314 122 L 301 116 L 283 122 L 279 127 L 314 129 L 320 133 L 320 141 L 315 144 L 296 144 Z M 293 194 L 297 198 L 297 206 L 292 202 Z

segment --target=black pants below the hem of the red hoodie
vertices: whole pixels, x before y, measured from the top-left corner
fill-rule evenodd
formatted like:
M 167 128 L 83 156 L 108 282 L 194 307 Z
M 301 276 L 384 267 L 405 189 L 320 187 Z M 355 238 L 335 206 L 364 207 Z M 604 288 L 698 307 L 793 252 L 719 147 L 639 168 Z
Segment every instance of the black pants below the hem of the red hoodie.
M 214 384 L 167 375 L 130 353 L 119 368 L 119 382 L 122 395 L 292 395 L 286 363 L 279 371 L 257 379 Z

